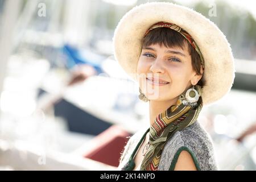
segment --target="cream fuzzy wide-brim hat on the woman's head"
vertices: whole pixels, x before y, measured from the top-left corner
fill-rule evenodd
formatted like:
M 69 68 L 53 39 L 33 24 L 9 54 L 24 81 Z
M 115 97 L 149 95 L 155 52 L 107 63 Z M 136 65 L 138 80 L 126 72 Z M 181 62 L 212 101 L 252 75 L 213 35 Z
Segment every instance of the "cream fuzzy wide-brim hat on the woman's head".
M 208 18 L 184 6 L 168 2 L 139 5 L 119 21 L 113 37 L 114 57 L 134 80 L 145 32 L 158 22 L 174 23 L 195 40 L 204 57 L 204 105 L 212 104 L 228 93 L 234 81 L 234 58 L 230 44 Z

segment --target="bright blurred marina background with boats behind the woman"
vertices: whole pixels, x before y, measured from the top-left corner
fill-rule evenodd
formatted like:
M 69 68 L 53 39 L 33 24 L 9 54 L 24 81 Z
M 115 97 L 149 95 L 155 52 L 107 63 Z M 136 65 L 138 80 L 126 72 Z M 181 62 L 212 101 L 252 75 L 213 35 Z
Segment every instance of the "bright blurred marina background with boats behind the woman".
M 119 19 L 146 2 L 0 0 L 1 170 L 116 169 L 127 137 L 149 122 L 112 37 Z M 199 122 L 220 170 L 255 170 L 256 3 L 165 2 L 205 15 L 229 40 L 233 88 Z

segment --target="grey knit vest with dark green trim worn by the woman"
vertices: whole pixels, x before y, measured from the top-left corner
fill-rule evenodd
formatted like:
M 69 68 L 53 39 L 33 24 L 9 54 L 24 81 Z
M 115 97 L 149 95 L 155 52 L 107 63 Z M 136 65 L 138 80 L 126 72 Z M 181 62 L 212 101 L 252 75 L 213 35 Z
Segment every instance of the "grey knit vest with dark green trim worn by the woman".
M 131 154 L 133 154 L 133 151 L 139 143 L 139 140 L 141 140 L 147 129 L 139 130 L 129 139 L 121 155 L 118 170 L 128 162 Z M 179 154 L 183 150 L 188 151 L 189 154 L 191 154 L 197 170 L 217 170 L 212 140 L 199 122 L 196 121 L 193 125 L 184 130 L 177 131 L 174 136 L 166 142 L 160 158 L 158 170 L 173 170 L 177 159 L 179 158 Z

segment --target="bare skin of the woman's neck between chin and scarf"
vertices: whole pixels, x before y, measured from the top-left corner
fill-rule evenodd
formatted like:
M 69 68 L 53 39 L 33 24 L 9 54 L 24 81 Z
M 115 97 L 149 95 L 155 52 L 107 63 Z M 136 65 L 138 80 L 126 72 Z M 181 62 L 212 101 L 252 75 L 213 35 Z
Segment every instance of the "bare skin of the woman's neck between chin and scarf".
M 155 118 L 160 114 L 163 113 L 168 107 L 175 105 L 178 100 L 177 98 L 174 98 L 172 100 L 168 101 L 154 101 L 151 100 L 149 102 L 149 109 L 150 109 L 150 126 L 154 123 Z

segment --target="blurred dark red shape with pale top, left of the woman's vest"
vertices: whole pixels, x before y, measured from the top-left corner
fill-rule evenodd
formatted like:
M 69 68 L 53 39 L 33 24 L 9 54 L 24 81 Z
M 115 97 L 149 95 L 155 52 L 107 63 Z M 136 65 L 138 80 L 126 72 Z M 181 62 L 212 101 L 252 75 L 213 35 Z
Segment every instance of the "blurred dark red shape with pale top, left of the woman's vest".
M 113 125 L 92 139 L 93 146 L 84 157 L 118 167 L 121 152 L 130 136 L 122 127 Z

